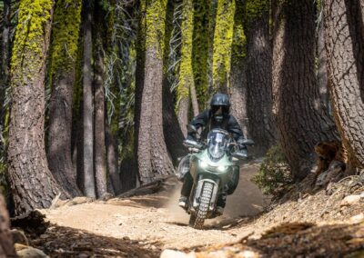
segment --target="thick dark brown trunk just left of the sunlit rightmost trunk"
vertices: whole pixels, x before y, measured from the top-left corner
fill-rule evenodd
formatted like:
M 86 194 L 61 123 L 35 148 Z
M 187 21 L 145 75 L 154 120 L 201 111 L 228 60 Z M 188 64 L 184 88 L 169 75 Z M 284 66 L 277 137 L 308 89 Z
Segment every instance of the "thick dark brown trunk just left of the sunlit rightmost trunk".
M 336 127 L 320 109 L 315 76 L 315 13 L 310 0 L 278 6 L 273 51 L 273 91 L 280 141 L 296 181 L 310 171 L 312 150 L 337 139 Z

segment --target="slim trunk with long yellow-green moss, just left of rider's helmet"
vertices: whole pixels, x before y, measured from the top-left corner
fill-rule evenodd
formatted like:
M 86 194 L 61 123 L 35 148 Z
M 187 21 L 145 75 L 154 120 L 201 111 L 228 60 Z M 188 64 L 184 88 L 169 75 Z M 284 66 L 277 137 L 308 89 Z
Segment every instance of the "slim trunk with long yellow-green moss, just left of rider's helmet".
M 187 135 L 190 88 L 195 87 L 192 70 L 192 34 L 193 5 L 192 0 L 183 1 L 182 11 L 182 46 L 179 66 L 179 83 L 177 86 L 177 114 L 183 134 Z

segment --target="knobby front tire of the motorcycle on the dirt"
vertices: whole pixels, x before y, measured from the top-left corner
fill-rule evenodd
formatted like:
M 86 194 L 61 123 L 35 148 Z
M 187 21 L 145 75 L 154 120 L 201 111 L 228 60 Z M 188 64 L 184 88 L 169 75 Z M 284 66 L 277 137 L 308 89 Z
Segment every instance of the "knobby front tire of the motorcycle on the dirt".
M 207 218 L 208 206 L 210 204 L 212 190 L 214 185 L 211 183 L 205 183 L 204 188 L 200 196 L 200 203 L 198 205 L 196 213 L 192 213 L 189 218 L 189 225 L 196 229 L 202 229 L 205 220 Z

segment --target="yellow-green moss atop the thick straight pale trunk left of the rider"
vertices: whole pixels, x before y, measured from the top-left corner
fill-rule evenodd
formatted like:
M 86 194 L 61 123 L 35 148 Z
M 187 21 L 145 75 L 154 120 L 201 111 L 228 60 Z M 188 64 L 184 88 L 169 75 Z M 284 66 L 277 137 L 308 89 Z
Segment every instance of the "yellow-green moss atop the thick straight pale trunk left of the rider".
M 163 58 L 167 0 L 148 0 L 146 5 L 146 46 L 156 48 L 157 58 Z

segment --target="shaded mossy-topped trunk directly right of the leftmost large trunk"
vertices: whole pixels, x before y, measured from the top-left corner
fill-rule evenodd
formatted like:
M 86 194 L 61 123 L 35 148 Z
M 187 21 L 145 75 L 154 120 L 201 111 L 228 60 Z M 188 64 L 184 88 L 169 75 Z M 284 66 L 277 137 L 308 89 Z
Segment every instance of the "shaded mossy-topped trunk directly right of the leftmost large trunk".
M 50 57 L 52 94 L 49 104 L 48 163 L 58 184 L 72 196 L 81 195 L 72 164 L 72 105 L 82 1 L 56 3 Z M 64 23 L 68 20 L 68 23 Z

